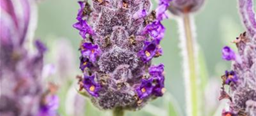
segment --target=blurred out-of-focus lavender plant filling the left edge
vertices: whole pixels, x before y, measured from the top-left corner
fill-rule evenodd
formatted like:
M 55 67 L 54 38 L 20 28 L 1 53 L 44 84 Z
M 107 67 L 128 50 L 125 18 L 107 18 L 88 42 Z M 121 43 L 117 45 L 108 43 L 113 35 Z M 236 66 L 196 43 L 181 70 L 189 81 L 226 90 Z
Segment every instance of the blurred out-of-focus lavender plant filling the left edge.
M 35 0 L 0 0 L 0 116 L 57 116 L 56 87 L 42 85 L 43 55 L 47 48 L 35 41 Z

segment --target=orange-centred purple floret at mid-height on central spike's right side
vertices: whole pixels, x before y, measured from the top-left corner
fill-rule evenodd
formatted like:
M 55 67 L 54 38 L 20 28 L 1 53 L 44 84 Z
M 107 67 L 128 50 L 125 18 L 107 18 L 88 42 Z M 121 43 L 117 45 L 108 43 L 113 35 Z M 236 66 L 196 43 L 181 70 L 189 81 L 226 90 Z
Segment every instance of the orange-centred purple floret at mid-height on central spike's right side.
M 159 50 L 156 45 L 156 41 L 154 40 L 152 42 L 145 41 L 144 44 L 144 48 L 138 52 L 138 56 L 144 63 L 147 63 L 156 55 L 156 52 Z

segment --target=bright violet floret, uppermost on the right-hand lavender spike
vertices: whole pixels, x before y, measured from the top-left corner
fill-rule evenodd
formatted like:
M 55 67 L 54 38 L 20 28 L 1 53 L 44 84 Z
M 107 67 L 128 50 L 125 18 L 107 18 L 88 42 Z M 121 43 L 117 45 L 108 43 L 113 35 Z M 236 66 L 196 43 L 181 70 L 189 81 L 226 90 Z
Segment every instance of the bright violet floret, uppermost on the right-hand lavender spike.
M 235 52 L 230 47 L 225 46 L 222 49 L 222 58 L 225 60 L 235 60 Z

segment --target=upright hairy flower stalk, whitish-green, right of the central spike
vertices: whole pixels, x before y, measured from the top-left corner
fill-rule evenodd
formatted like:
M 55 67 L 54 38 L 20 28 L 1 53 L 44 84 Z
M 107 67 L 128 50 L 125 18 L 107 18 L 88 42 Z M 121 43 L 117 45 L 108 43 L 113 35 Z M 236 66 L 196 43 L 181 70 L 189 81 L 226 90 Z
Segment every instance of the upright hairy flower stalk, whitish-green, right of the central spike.
M 183 67 L 184 67 L 184 80 L 186 91 L 186 106 L 188 116 L 199 116 L 198 101 L 198 73 L 196 63 L 196 45 L 194 40 L 193 25 L 191 22 L 191 15 L 184 13 L 179 20 L 180 25 L 180 42 L 183 55 Z

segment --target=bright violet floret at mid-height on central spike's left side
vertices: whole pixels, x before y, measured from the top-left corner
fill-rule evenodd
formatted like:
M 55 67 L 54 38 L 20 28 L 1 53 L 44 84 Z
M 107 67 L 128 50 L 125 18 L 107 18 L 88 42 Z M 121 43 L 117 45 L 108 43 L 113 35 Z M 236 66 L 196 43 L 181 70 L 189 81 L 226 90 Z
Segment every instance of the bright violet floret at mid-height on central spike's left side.
M 83 43 L 81 47 L 83 57 L 88 57 L 92 62 L 97 60 L 97 56 L 100 55 L 98 45 L 93 45 L 92 43 Z

